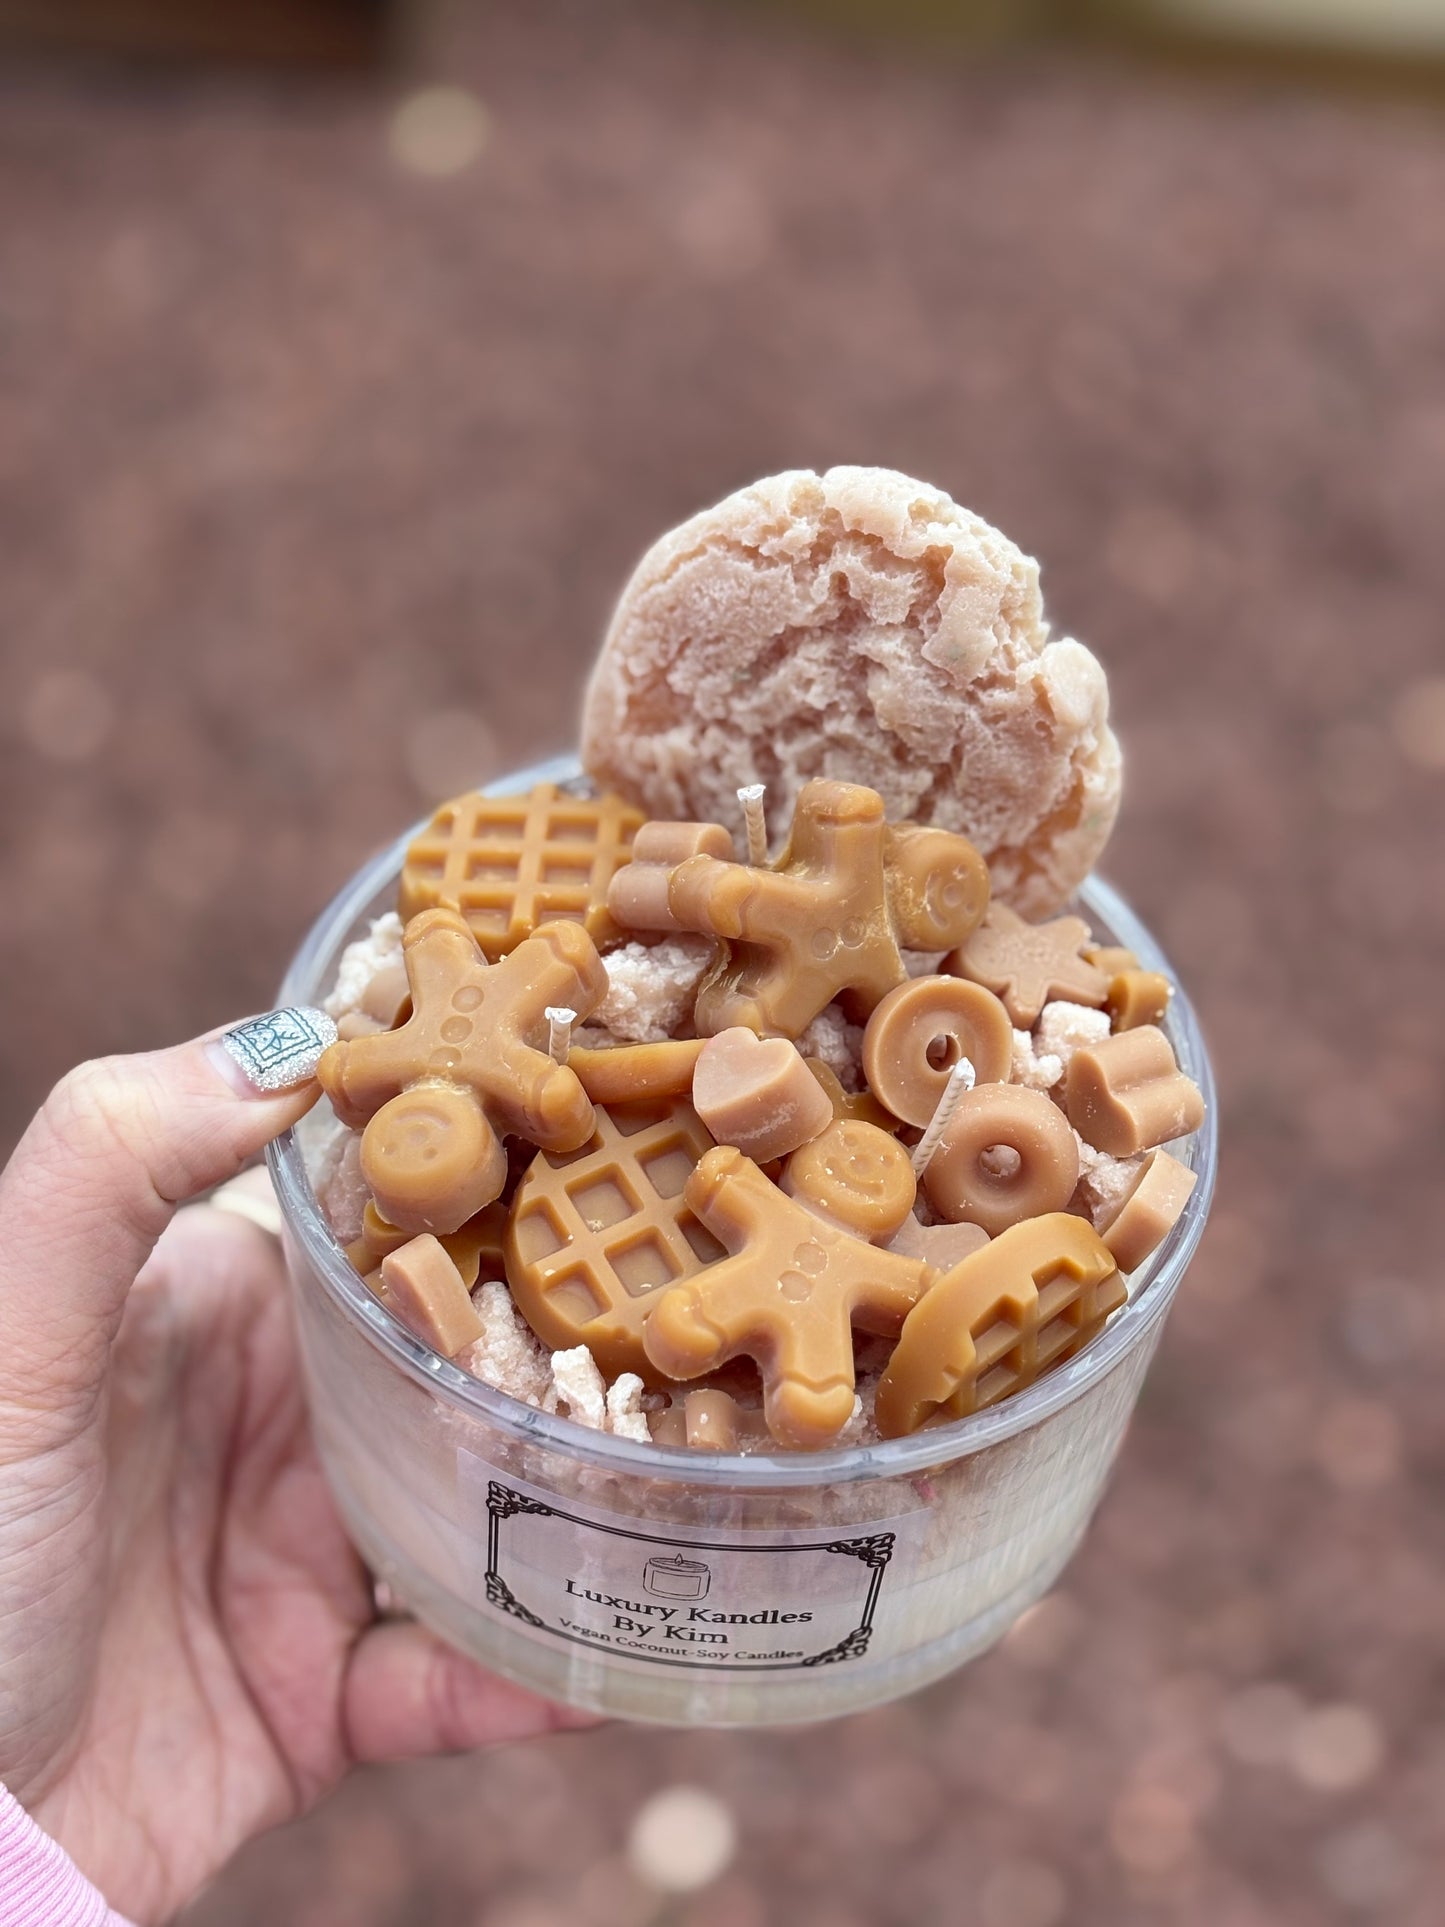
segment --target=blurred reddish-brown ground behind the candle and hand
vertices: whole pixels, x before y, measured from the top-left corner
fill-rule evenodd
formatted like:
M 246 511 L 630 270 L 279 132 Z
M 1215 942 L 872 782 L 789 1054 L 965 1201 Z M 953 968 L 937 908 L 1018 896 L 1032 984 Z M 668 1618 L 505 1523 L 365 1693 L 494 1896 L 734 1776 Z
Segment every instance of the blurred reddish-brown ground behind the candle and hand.
M 1117 1482 L 996 1653 L 360 1777 L 187 1927 L 1441 1919 L 1445 121 L 819 13 L 0 73 L 6 1141 L 266 1006 L 380 840 L 568 740 L 661 528 L 832 461 L 1000 522 L 1106 659 L 1108 869 L 1225 1093 Z

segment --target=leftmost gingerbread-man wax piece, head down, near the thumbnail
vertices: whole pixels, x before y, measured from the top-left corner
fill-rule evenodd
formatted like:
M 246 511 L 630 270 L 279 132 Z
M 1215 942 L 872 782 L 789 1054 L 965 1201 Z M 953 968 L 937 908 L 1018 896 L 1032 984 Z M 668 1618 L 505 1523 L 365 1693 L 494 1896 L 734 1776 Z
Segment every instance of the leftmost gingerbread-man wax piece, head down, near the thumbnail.
M 366 1125 L 362 1177 L 403 1231 L 455 1231 L 501 1195 L 499 1133 L 576 1150 L 591 1104 L 545 1048 L 545 1010 L 586 1016 L 607 971 L 580 923 L 549 923 L 487 964 L 455 910 L 412 917 L 403 937 L 412 1014 L 397 1031 L 337 1043 L 316 1075 L 343 1123 Z

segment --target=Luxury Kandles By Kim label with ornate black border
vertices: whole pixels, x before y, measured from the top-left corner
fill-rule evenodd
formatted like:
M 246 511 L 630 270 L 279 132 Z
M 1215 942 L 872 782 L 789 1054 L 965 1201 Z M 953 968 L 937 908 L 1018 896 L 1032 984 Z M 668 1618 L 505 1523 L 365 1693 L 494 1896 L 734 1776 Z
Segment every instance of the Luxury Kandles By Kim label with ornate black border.
M 462 1476 L 486 1503 L 484 1588 L 495 1611 L 661 1667 L 778 1673 L 859 1659 L 917 1522 L 694 1536 L 555 1499 L 476 1459 Z

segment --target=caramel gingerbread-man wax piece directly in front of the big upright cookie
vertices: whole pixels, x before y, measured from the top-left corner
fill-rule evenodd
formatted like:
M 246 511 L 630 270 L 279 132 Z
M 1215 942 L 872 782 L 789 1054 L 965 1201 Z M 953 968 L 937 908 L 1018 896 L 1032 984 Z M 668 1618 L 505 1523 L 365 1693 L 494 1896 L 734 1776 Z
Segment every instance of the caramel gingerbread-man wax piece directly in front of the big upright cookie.
M 678 927 L 724 946 L 697 992 L 705 1037 L 798 1037 L 834 998 L 867 1016 L 907 975 L 900 946 L 961 942 L 986 896 L 973 844 L 890 827 L 877 790 L 828 780 L 803 786 L 776 863 L 694 856 L 669 884 Z

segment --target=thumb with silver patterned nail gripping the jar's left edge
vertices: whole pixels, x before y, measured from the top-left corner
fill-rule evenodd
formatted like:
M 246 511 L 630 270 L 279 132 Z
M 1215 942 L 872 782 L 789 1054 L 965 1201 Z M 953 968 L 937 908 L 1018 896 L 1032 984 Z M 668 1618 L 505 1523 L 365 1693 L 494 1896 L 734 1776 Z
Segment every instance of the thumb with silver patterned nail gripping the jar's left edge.
M 89 1391 L 175 1206 L 231 1177 L 320 1093 L 320 1010 L 81 1064 L 0 1174 L 0 1403 Z

